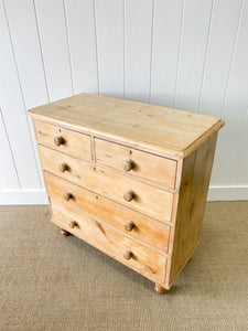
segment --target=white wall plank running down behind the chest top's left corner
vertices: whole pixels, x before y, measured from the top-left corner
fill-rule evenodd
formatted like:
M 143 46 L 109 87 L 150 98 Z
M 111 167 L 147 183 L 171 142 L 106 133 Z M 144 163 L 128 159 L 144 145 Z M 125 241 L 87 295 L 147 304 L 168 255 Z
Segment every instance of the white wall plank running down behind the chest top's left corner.
M 6 0 L 6 9 L 10 24 L 24 105 L 26 109 L 30 109 L 48 102 L 48 92 L 33 0 L 23 0 L 21 7 L 17 6 L 15 0 Z M 23 21 L 25 24 L 23 24 Z M 35 159 L 39 167 L 40 180 L 42 182 L 42 186 L 44 188 L 33 126 L 30 118 L 29 126 L 32 135 Z

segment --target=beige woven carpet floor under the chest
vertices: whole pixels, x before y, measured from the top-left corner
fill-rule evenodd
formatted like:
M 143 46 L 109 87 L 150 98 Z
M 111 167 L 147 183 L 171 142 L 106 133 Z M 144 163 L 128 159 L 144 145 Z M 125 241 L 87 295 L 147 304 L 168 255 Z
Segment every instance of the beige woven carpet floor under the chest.
M 47 206 L 0 207 L 0 330 L 248 330 L 248 201 L 207 203 L 171 291 L 76 237 Z

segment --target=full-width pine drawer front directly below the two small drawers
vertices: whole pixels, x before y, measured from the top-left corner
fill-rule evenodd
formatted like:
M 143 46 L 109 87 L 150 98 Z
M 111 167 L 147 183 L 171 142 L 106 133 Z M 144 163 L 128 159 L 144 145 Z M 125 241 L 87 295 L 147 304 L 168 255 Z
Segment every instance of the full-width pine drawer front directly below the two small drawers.
M 172 193 L 122 177 L 109 168 L 97 167 L 43 146 L 40 146 L 39 150 L 44 170 L 162 222 L 171 220 Z

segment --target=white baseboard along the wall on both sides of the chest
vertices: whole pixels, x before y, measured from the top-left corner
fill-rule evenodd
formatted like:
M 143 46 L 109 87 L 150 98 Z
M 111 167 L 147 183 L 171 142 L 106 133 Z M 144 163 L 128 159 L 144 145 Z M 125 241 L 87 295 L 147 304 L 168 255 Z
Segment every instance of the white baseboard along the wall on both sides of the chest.
M 247 186 L 211 186 L 207 201 L 248 200 Z M 0 205 L 47 204 L 44 190 L 0 191 Z

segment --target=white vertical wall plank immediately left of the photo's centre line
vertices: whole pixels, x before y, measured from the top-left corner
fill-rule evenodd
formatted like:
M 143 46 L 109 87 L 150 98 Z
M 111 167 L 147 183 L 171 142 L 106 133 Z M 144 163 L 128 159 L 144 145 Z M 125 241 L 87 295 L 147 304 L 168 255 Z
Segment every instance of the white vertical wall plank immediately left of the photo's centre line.
M 99 93 L 123 97 L 123 0 L 95 0 Z

